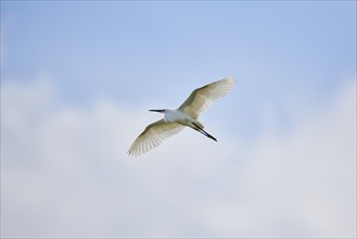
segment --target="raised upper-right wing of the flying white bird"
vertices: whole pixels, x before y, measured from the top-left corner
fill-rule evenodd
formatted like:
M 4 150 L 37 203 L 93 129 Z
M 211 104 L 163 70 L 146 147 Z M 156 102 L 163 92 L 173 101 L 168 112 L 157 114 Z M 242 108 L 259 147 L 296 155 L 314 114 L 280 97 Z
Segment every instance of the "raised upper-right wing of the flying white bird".
M 235 84 L 234 77 L 229 76 L 218 81 L 208 84 L 192 91 L 190 97 L 178 108 L 178 110 L 197 118 L 199 115 L 207 110 L 212 103 L 220 97 L 227 95 Z

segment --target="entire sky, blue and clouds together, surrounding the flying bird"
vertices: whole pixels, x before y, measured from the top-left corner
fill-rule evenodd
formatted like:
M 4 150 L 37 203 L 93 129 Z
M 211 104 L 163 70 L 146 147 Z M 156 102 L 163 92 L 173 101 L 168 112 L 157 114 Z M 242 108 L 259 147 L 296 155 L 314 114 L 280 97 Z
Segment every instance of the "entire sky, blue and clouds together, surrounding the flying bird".
M 228 75 L 234 75 L 238 85 L 202 115 L 207 131 L 217 136 L 220 144 L 213 146 L 186 130 L 144 155 L 144 162 L 132 163 L 126 156 L 135 137 L 160 117 L 148 109 L 175 109 L 194 88 Z M 1 1 L 2 234 L 355 235 L 356 227 L 350 225 L 355 225 L 356 214 L 348 213 L 356 211 L 350 204 L 356 200 L 352 189 L 356 188 L 356 171 L 350 171 L 356 165 L 355 89 L 355 1 Z M 195 152 L 190 143 L 196 143 Z M 23 168 L 25 159 L 33 160 Z M 341 159 L 345 159 L 342 165 Z M 201 168 L 202 164 L 208 169 Z M 321 164 L 326 172 L 318 169 Z M 43 199 L 42 204 L 36 203 L 36 197 L 30 202 L 14 200 L 26 194 L 26 183 L 34 184 L 38 194 L 52 185 L 75 192 L 71 181 L 55 176 L 58 167 L 74 180 L 81 171 L 77 183 L 85 189 L 80 196 L 64 200 L 63 205 L 61 193 Z M 301 179 L 301 174 L 307 178 Z M 23 176 L 14 179 L 16 175 Z M 337 175 L 336 184 L 348 186 L 339 197 L 340 187 L 324 186 L 331 184 L 331 175 Z M 288 186 L 282 181 L 286 177 L 295 187 L 288 191 L 303 194 L 301 200 L 284 198 Z M 49 185 L 43 186 L 42 180 Z M 114 181 L 127 181 L 132 191 Z M 264 187 L 264 181 L 269 186 Z M 154 192 L 143 192 L 145 183 Z M 94 188 L 87 188 L 88 184 Z M 305 190 L 305 185 L 310 188 Z M 310 200 L 314 191 L 317 199 L 331 198 L 331 204 L 317 206 L 326 214 L 311 210 L 316 207 Z M 80 199 L 100 198 L 99 192 L 104 198 L 126 194 L 123 207 L 117 207 L 115 200 L 102 202 L 95 215 L 103 218 L 103 225 L 71 214 Z M 243 192 L 246 198 L 242 199 Z M 272 192 L 285 203 L 277 203 Z M 173 199 L 176 193 L 186 197 L 183 204 Z M 221 197 L 213 196 L 217 193 Z M 132 212 L 126 209 L 145 205 L 133 199 L 138 197 L 152 202 L 148 206 L 158 212 L 153 225 L 145 226 L 153 212 L 143 209 L 142 231 L 132 229 L 135 221 L 128 218 Z M 259 199 L 264 197 L 268 200 Z M 161 205 L 162 198 L 173 202 Z M 206 203 L 196 203 L 205 198 Z M 82 214 L 93 204 L 95 200 L 79 206 Z M 294 205 L 304 213 L 292 210 Z M 23 218 L 17 207 L 39 223 L 27 228 L 28 222 L 17 218 Z M 111 210 L 119 213 L 107 214 Z M 192 210 L 192 215 L 186 210 Z M 33 211 L 41 211 L 40 218 Z M 166 211 L 170 219 L 162 225 Z M 72 216 L 82 222 L 77 230 L 71 227 Z M 190 216 L 199 223 L 177 226 Z M 343 219 L 322 218 L 333 216 Z M 113 221 L 122 222 L 122 229 L 104 224 Z M 282 221 L 291 222 L 291 227 L 279 227 Z M 44 222 L 49 224 L 46 231 L 40 229 Z M 336 224 L 335 230 L 329 229 Z M 88 227 L 93 230 L 84 231 Z

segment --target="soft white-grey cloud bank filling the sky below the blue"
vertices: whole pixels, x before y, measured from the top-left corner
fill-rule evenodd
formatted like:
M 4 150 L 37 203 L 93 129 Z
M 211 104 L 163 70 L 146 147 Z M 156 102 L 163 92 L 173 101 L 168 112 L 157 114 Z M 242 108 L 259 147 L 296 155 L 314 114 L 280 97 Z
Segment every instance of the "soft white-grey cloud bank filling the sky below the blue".
M 46 78 L 46 77 L 43 77 Z M 193 130 L 131 159 L 142 109 L 1 87 L 2 237 L 355 237 L 356 85 L 259 141 Z M 212 131 L 215 131 L 212 129 Z M 217 130 L 218 131 L 218 130 Z

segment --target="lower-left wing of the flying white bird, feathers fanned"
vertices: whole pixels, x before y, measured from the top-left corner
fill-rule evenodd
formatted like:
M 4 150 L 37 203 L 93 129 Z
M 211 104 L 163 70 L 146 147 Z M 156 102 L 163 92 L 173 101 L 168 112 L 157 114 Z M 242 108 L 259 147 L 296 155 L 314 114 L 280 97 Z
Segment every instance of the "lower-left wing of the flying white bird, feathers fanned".
M 160 120 L 146 126 L 143 133 L 133 141 L 128 150 L 129 155 L 138 156 L 141 153 L 157 147 L 164 139 L 179 133 L 183 126 L 178 123 L 166 123 Z

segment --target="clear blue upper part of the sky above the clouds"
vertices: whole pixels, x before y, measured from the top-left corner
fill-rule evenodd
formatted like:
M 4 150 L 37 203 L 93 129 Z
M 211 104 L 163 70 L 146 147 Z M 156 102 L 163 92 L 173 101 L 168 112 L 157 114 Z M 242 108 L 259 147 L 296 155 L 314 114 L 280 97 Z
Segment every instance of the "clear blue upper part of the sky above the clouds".
M 3 76 L 48 71 L 71 97 L 100 89 L 126 102 L 131 87 L 153 91 L 192 73 L 260 79 L 259 93 L 281 84 L 324 92 L 354 73 L 355 18 L 353 1 L 2 2 Z

